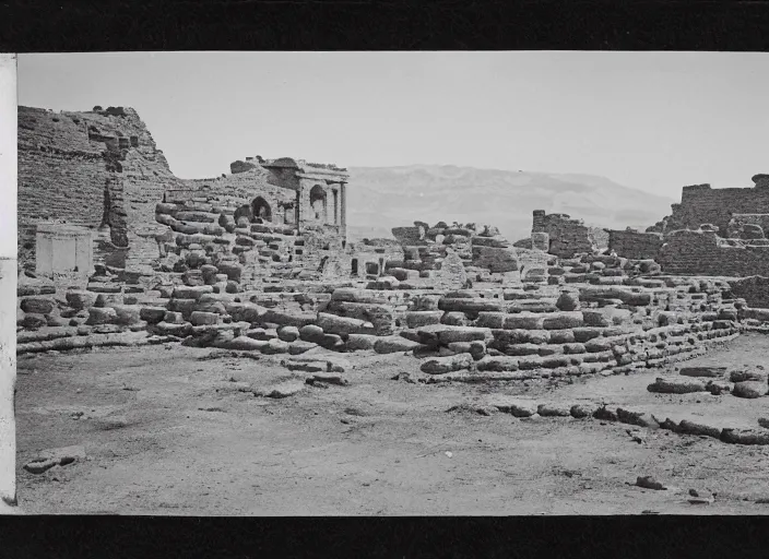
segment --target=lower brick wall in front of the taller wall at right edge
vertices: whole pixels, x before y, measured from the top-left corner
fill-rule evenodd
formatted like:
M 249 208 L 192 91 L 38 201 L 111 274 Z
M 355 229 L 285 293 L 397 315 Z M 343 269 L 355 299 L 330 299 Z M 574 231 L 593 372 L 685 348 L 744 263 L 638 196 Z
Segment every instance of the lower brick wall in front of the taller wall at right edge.
M 670 274 L 769 276 L 769 247 L 725 246 L 712 231 L 674 231 L 665 238 L 658 261 Z

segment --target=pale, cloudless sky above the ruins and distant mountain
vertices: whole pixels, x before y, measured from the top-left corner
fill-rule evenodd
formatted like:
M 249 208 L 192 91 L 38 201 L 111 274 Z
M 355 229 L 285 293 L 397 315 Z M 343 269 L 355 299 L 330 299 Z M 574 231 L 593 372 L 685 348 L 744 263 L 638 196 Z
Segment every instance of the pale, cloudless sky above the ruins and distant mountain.
M 769 53 L 19 56 L 19 104 L 129 106 L 181 178 L 257 154 L 601 175 L 670 198 L 769 173 Z

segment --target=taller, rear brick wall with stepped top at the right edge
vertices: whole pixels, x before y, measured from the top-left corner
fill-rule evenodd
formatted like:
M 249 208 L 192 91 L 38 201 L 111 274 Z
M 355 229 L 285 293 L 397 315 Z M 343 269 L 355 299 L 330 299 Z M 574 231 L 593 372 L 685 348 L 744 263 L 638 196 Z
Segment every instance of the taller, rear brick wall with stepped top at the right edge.
M 710 185 L 684 187 L 681 203 L 673 204 L 673 213 L 658 225 L 662 226 L 663 233 L 670 233 L 712 224 L 723 234 L 732 214 L 769 213 L 769 187 L 764 177 L 766 176 L 756 175 L 753 188 L 713 189 Z

